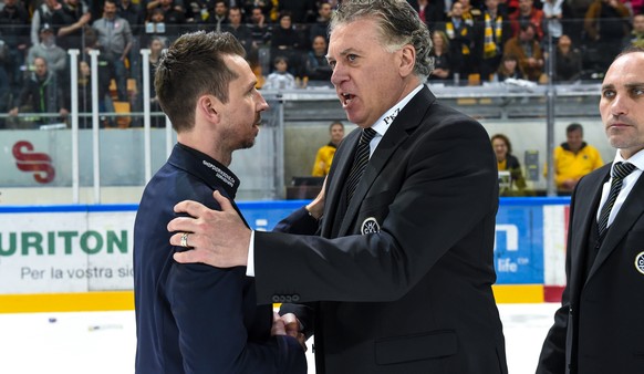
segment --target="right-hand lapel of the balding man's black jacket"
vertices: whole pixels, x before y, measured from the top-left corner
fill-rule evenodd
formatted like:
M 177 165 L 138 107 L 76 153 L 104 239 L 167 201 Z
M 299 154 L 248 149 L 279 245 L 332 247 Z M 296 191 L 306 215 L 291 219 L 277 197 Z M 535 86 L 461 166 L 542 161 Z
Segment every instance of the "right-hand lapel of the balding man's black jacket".
M 606 258 L 615 250 L 620 241 L 626 236 L 626 232 L 635 224 L 637 218 L 644 214 L 644 177 L 640 176 L 635 186 L 629 194 L 629 197 L 620 208 L 620 212 L 615 217 L 613 224 L 606 232 L 606 237 L 602 242 L 602 247 L 598 253 L 598 258 L 593 263 L 589 278 L 598 270 L 598 268 L 606 260 Z

